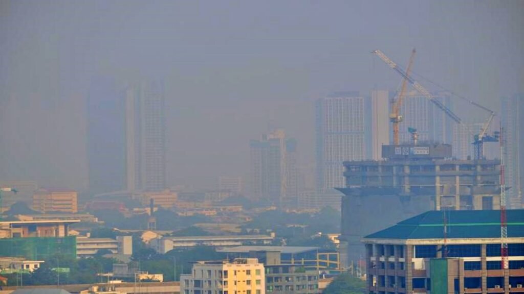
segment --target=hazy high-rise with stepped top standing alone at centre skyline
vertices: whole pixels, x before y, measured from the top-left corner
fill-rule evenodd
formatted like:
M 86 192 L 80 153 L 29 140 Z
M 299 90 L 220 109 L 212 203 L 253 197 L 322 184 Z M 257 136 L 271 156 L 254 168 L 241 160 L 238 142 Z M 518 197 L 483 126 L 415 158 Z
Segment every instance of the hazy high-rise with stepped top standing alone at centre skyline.
M 298 196 L 297 143 L 278 129 L 251 140 L 251 193 L 254 200 L 292 205 Z

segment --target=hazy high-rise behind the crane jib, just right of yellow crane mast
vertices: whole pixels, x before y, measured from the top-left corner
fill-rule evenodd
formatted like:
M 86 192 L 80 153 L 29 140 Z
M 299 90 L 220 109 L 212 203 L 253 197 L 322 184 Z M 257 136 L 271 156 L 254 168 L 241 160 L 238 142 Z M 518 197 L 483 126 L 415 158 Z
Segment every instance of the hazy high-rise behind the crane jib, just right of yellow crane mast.
M 446 92 L 434 93 L 433 97 L 447 108 L 453 109 L 450 94 Z M 407 93 L 400 107 L 400 115 L 403 117 L 399 125 L 400 143 L 410 142 L 411 133 L 408 128 L 415 128 L 419 133 L 420 142 L 431 141 L 451 144 L 454 121 L 418 92 Z

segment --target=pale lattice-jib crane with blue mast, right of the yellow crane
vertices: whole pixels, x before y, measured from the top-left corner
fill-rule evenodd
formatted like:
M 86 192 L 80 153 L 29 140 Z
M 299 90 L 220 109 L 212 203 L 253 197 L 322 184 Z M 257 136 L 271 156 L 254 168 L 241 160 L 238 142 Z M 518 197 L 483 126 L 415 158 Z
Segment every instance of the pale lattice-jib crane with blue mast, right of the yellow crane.
M 408 72 L 405 72 L 398 66 L 395 62 L 393 62 L 391 59 L 386 56 L 382 51 L 380 50 L 374 50 L 372 51 L 373 54 L 377 55 L 381 60 L 383 60 L 389 67 L 394 69 L 398 74 L 400 74 L 405 80 L 407 80 L 413 88 L 415 88 L 422 96 L 429 99 L 433 104 L 435 104 L 437 107 L 439 107 L 444 113 L 449 116 L 451 119 L 453 119 L 456 123 L 459 123 L 459 125 L 464 125 L 461 118 L 457 116 L 451 109 L 447 108 L 444 104 L 442 104 L 439 100 L 435 99 L 427 89 L 425 89 L 422 85 L 420 85 L 417 81 L 415 81 Z M 462 98 L 462 97 L 461 97 Z M 463 98 L 465 99 L 465 98 Z M 478 103 L 476 103 L 473 100 L 468 100 L 468 103 L 470 103 L 473 106 L 476 106 L 478 108 L 481 108 L 485 111 L 489 112 L 488 119 L 484 122 L 481 131 L 474 135 L 474 141 L 473 145 L 475 146 L 475 160 L 482 159 L 483 152 L 484 152 L 484 142 L 498 142 L 499 141 L 499 135 L 500 132 L 496 131 L 493 133 L 493 135 L 488 135 L 487 130 L 489 129 L 489 126 L 493 122 L 493 118 L 495 117 L 495 111 L 484 107 Z

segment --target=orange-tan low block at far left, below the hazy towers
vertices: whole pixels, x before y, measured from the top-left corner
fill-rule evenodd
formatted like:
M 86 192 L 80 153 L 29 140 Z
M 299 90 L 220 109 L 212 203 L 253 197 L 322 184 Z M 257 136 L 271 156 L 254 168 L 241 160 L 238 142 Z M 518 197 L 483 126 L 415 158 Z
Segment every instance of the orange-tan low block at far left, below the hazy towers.
M 38 189 L 32 198 L 32 209 L 41 212 L 78 211 L 77 191 L 68 189 Z

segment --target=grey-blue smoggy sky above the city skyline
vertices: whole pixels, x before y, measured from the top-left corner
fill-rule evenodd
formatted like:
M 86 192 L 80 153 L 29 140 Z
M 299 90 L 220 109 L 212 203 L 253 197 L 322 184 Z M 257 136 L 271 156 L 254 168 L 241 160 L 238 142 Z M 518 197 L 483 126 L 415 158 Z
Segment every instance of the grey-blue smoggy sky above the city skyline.
M 86 187 L 96 76 L 165 82 L 171 185 L 244 174 L 269 126 L 312 168 L 314 99 L 398 87 L 374 49 L 406 64 L 414 47 L 415 72 L 498 110 L 524 91 L 523 15 L 523 1 L 0 0 L 0 179 Z

